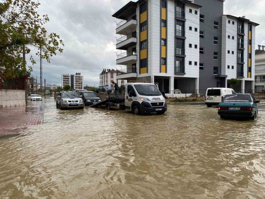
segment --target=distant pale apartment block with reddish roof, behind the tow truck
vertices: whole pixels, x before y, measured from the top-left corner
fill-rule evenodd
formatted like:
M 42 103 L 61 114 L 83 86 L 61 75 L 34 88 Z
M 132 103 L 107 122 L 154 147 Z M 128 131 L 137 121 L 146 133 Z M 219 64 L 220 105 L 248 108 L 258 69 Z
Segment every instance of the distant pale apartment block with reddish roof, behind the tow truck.
M 100 87 L 114 89 L 113 81 L 118 83 L 118 86 L 124 85 L 126 80 L 117 79 L 118 74 L 122 73 L 123 70 L 103 69 L 100 73 Z

